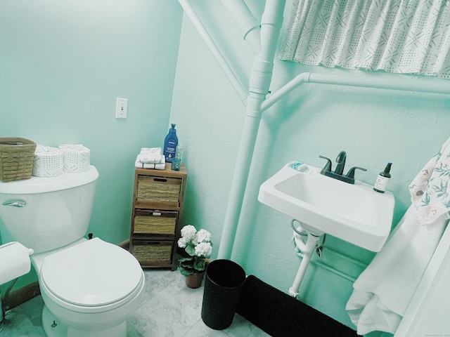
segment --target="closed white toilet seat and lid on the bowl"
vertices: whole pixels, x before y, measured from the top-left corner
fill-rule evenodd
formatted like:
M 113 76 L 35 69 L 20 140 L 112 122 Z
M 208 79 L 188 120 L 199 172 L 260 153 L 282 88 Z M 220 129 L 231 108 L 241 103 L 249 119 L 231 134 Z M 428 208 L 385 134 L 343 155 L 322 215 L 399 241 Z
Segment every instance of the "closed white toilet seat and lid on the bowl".
M 136 258 L 98 238 L 46 256 L 40 274 L 44 290 L 60 305 L 87 307 L 88 311 L 122 305 L 139 292 L 143 283 Z

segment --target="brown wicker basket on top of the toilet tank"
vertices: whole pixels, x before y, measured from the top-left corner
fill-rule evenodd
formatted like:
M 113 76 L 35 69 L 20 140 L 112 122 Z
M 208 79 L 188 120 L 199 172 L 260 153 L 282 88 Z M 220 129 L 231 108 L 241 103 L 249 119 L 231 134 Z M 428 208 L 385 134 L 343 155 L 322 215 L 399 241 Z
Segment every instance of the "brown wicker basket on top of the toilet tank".
M 0 137 L 0 180 L 30 179 L 36 143 L 25 138 Z

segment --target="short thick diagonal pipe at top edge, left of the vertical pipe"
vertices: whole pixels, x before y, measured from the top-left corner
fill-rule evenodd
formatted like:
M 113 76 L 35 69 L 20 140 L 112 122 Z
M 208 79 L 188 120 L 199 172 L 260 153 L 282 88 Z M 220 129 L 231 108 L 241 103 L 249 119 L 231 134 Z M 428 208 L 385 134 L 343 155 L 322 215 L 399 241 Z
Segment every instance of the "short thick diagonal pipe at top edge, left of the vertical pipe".
M 261 35 L 259 21 L 252 14 L 243 0 L 221 0 L 231 18 L 238 26 L 239 33 L 252 48 L 255 55 L 261 52 Z

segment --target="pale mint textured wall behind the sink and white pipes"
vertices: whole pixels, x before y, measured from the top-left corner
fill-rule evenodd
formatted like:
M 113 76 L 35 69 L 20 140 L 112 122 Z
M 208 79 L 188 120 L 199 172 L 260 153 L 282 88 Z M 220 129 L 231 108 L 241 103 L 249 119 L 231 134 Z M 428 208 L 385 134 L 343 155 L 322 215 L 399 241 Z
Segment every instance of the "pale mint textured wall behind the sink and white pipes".
M 233 22 L 226 20 L 219 8 L 217 18 L 211 13 L 206 15 L 200 6 L 196 10 L 207 20 L 206 26 L 216 44 L 238 69 L 238 74 L 245 73 L 243 67 L 247 67 L 249 74 L 253 56 L 236 34 Z M 222 40 L 217 32 L 235 38 Z M 361 74 L 276 61 L 271 91 L 301 72 L 354 77 Z M 389 79 L 387 75 L 375 74 Z M 290 218 L 260 204 L 257 192 L 259 185 L 288 161 L 322 166 L 324 161 L 319 159 L 319 154 L 334 159 L 340 150 L 347 151 L 347 168 L 358 165 L 368 169 L 366 173 L 357 171 L 356 174 L 370 184 L 387 161 L 392 161 L 388 190 L 396 197 L 396 224 L 409 206 L 409 182 L 450 136 L 449 107 L 448 95 L 315 84 L 305 84 L 290 93 L 263 115 L 233 260 L 243 265 L 248 274 L 288 291 L 300 265 L 290 242 Z M 211 53 L 185 17 L 170 118 L 179 128 L 189 172 L 183 222 L 210 230 L 215 254 L 224 224 L 244 111 Z M 336 256 L 331 249 L 362 263 L 373 258 L 370 251 L 333 237 L 327 237 L 326 245 L 330 249 L 323 251 L 323 259 L 354 277 L 361 272 L 361 266 Z M 344 310 L 351 291 L 352 282 L 313 265 L 302 284 L 300 297 L 351 325 Z

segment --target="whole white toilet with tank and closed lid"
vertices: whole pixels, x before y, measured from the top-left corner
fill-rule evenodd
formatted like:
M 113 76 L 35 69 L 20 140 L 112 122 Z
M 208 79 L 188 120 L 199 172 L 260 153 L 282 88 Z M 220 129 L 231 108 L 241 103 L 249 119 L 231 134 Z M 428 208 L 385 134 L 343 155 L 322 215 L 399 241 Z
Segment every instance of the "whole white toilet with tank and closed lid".
M 83 173 L 0 182 L 2 242 L 34 250 L 47 336 L 127 336 L 127 318 L 143 295 L 143 270 L 131 253 L 84 238 L 97 178 L 90 166 Z

